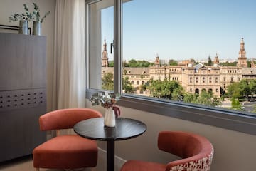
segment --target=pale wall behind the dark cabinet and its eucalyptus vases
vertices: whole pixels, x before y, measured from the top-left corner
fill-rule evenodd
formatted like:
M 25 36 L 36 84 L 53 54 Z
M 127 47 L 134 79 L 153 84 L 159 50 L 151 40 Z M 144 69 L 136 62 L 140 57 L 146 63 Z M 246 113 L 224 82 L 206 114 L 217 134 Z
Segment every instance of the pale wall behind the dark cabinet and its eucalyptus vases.
M 0 24 L 18 26 L 18 21 L 9 22 L 9 16 L 16 13 L 24 13 L 23 4 L 28 5 L 29 11 L 33 11 L 33 2 L 38 4 L 40 14 L 43 16 L 47 11 L 50 11 L 50 15 L 46 16 L 46 19 L 42 24 L 42 35 L 47 37 L 47 71 L 48 71 L 48 109 L 51 108 L 50 95 L 51 81 L 52 81 L 52 63 L 53 63 L 53 38 L 54 38 L 54 17 L 55 17 L 55 0 L 0 0 Z M 32 21 L 28 24 L 32 28 Z

